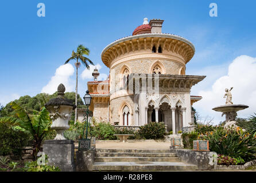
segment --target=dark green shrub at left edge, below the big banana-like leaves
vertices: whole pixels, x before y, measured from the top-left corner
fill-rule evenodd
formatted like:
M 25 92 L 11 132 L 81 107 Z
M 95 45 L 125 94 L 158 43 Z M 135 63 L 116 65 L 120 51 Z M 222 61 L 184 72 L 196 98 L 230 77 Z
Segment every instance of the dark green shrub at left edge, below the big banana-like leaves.
M 14 130 L 10 125 L 0 123 L 0 155 L 21 154 L 22 147 L 29 140 L 29 134 Z

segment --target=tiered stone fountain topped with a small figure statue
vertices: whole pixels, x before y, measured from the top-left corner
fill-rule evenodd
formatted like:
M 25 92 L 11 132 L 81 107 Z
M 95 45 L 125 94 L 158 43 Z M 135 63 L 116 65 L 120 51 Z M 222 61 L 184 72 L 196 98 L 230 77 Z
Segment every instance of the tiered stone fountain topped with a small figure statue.
M 231 94 L 232 89 L 233 87 L 231 87 L 229 90 L 227 88 L 225 89 L 226 93 L 223 98 L 226 98 L 226 105 L 221 105 L 212 109 L 212 110 L 215 110 L 216 112 L 222 112 L 222 116 L 224 114 L 226 115 L 224 128 L 232 128 L 232 127 L 236 128 L 237 127 L 235 125 L 236 124 L 235 118 L 237 116 L 236 112 L 238 112 L 239 110 L 249 108 L 249 106 L 247 105 L 233 104 L 232 94 Z

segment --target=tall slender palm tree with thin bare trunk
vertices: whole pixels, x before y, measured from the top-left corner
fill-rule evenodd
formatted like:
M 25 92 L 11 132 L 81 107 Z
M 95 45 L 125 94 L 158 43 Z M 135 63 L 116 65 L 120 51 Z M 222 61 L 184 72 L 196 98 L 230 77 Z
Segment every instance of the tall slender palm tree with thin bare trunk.
M 72 55 L 70 58 L 67 59 L 67 61 L 64 63 L 68 63 L 69 61 L 71 61 L 72 59 L 76 60 L 75 66 L 76 66 L 76 100 L 75 100 L 75 105 L 77 106 L 77 71 L 78 68 L 80 67 L 81 63 L 79 62 L 82 61 L 83 65 L 86 66 L 87 69 L 90 69 L 90 66 L 88 65 L 87 61 L 90 62 L 92 65 L 94 65 L 94 63 L 87 57 L 84 57 L 83 55 L 89 55 L 90 54 L 90 50 L 88 49 L 88 47 L 84 47 L 83 45 L 78 45 L 76 52 L 73 50 L 72 51 Z M 75 123 L 76 123 L 76 119 L 77 119 L 77 108 L 75 109 Z

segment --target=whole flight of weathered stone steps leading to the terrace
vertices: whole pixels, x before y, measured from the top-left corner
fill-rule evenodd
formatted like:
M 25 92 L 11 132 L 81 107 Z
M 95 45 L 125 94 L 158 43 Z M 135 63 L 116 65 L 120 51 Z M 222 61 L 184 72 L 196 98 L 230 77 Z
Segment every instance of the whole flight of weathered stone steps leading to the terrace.
M 96 149 L 95 153 L 95 171 L 196 169 L 196 165 L 181 162 L 170 149 Z

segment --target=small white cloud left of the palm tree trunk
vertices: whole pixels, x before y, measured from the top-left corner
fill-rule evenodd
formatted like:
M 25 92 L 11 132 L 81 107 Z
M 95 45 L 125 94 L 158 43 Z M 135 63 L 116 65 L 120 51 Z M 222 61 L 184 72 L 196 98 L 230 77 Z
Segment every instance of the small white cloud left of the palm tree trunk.
M 74 87 L 73 83 L 70 81 L 70 77 L 73 75 L 74 71 L 75 69 L 70 63 L 59 66 L 48 84 L 42 87 L 41 93 L 55 93 L 60 83 L 65 85 L 65 92 L 72 92 Z

